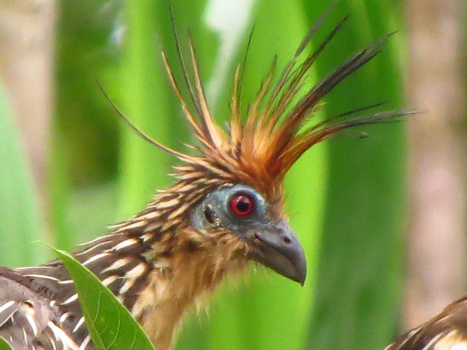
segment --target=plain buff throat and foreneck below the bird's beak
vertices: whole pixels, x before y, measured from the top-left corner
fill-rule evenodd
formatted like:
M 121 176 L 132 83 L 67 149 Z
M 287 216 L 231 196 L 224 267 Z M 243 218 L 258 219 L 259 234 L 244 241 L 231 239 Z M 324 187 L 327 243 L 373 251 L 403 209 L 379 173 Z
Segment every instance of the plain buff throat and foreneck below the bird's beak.
M 149 283 L 133 308 L 158 350 L 171 348 L 184 314 L 193 306 L 198 311 L 205 307 L 225 275 L 238 275 L 247 266 L 247 259 L 216 249 L 214 241 L 196 245 L 188 239 L 193 234 L 189 229 L 179 231 L 178 244 L 170 254 L 152 257 Z

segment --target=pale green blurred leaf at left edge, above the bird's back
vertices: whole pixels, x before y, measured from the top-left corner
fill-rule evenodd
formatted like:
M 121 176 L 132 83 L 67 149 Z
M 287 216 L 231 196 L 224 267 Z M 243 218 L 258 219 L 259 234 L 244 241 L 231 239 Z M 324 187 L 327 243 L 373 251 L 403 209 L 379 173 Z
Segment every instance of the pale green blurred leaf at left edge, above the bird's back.
M 7 96 L 0 85 L 0 265 L 20 266 L 39 262 L 32 241 L 42 228 L 37 219 L 38 199 L 29 159 Z M 21 254 L 17 248 L 21 247 Z

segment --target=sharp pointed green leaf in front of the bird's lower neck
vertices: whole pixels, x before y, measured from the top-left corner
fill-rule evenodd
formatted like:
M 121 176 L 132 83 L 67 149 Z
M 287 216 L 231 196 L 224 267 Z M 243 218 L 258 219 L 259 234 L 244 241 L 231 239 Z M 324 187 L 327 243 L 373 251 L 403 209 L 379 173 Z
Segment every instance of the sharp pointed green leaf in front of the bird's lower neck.
M 86 326 L 97 350 L 154 350 L 142 327 L 94 273 L 53 248 L 75 282 Z

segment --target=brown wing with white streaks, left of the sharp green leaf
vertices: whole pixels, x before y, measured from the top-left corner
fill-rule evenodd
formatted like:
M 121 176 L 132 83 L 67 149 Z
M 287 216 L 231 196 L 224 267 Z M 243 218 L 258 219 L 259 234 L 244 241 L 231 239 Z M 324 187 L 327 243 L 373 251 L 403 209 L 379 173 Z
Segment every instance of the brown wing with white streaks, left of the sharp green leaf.
M 51 300 L 46 289 L 31 288 L 31 279 L 0 267 L 0 336 L 15 350 L 78 350 L 58 327 Z

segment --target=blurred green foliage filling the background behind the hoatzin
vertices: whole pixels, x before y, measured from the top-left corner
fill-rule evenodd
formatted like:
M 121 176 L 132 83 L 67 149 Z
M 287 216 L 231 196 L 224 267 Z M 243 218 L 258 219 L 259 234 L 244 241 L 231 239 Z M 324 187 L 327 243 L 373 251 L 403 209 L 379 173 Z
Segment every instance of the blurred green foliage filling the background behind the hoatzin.
M 209 1 L 171 0 L 182 46 L 189 27 L 205 82 L 216 74 L 222 37 L 206 21 Z M 211 107 L 227 118 L 235 63 L 255 33 L 243 97 L 259 88 L 274 54 L 283 66 L 328 1 L 257 0 L 216 87 Z M 167 50 L 180 78 L 166 1 L 61 0 L 56 25 L 55 112 L 49 190 L 41 222 L 26 156 L 8 101 L 0 93 L 0 263 L 44 262 L 34 240 L 61 249 L 106 232 L 142 210 L 174 180 L 177 161 L 120 123 L 97 78 L 120 109 L 170 147 L 191 140 L 162 66 Z M 312 46 L 346 14 L 348 23 L 315 64 L 310 86 L 348 56 L 399 29 L 383 52 L 325 98 L 320 117 L 389 100 L 403 107 L 405 25 L 395 0 L 341 0 Z M 217 67 L 217 68 L 216 68 Z M 209 92 L 210 90 L 208 90 Z M 368 133 L 359 138 L 359 132 Z M 302 240 L 309 277 L 304 287 L 259 270 L 236 287 L 226 282 L 208 315 L 190 315 L 177 349 L 382 349 L 397 329 L 404 224 L 403 124 L 341 133 L 307 152 L 286 179 L 291 224 Z M 6 185 L 4 185 L 6 184 Z M 47 229 L 46 229 L 47 228 Z

